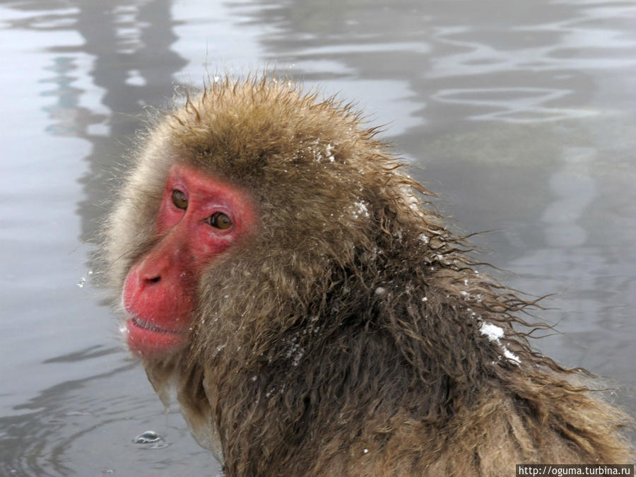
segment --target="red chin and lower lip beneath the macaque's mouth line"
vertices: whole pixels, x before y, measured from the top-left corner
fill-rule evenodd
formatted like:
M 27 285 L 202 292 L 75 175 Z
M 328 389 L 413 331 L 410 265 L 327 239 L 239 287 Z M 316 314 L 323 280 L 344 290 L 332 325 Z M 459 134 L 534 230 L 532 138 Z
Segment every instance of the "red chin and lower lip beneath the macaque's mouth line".
M 185 331 L 163 329 L 133 314 L 126 317 L 122 333 L 130 351 L 145 360 L 166 358 L 180 351 L 188 338 Z

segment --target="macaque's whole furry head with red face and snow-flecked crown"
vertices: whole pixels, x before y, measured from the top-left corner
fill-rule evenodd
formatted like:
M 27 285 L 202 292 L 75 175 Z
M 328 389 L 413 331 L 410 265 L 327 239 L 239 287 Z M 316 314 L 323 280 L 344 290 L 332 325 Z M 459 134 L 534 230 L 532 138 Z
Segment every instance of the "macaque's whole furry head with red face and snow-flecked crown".
M 209 358 L 241 327 L 305 312 L 398 215 L 380 198 L 424 190 L 374 136 L 348 105 L 269 80 L 213 83 L 152 126 L 105 227 L 129 348 Z

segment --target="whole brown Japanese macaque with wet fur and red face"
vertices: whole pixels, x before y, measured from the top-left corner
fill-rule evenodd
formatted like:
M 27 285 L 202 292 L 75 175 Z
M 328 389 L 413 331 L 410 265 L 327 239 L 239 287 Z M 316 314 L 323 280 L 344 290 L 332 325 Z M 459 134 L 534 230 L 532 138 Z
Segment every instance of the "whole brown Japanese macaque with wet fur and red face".
M 534 302 L 475 271 L 376 132 L 275 78 L 151 126 L 104 258 L 158 394 L 228 476 L 632 462 L 630 418 L 531 349 Z

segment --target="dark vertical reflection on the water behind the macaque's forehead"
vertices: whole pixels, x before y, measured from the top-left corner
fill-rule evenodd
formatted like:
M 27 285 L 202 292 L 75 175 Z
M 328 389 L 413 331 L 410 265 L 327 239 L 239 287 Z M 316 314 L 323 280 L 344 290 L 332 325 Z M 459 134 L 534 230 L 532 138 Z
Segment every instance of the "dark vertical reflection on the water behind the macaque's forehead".
M 102 222 L 107 199 L 105 185 L 112 164 L 124 151 L 113 148 L 112 137 L 131 138 L 139 127 L 143 105 L 162 105 L 174 88 L 173 76 L 185 64 L 171 48 L 177 37 L 167 0 L 145 2 L 82 2 L 78 33 L 85 39 L 83 51 L 92 55 L 88 72 L 103 88 L 101 102 L 114 112 L 107 121 L 111 136 L 89 136 L 93 152 L 86 158 L 89 170 L 81 182 L 86 192 L 78 204 L 83 236 L 90 240 Z

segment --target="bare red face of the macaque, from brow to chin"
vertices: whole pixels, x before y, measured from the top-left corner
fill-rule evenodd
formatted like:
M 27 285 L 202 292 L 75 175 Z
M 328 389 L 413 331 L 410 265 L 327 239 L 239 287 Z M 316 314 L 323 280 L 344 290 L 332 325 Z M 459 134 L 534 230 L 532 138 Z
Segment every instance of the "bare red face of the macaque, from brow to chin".
M 159 209 L 159 240 L 124 283 L 131 351 L 157 357 L 187 341 L 201 271 L 255 225 L 241 189 L 193 167 L 172 166 Z

